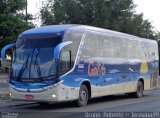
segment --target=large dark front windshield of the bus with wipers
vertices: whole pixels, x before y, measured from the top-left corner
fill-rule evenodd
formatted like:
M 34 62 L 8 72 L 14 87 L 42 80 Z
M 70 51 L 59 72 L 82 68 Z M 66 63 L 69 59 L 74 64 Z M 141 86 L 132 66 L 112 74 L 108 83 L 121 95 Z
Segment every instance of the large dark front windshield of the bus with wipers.
M 53 52 L 61 41 L 61 37 L 19 38 L 12 60 L 13 77 L 29 82 L 53 78 L 56 74 Z

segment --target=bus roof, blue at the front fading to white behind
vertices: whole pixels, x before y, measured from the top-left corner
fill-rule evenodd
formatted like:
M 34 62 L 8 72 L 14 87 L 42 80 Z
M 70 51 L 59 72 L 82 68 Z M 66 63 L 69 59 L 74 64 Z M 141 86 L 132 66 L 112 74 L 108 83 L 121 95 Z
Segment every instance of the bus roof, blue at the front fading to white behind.
M 145 38 L 140 38 L 134 35 L 122 33 L 122 32 L 117 32 L 113 30 L 108 30 L 108 29 L 103 29 L 103 28 L 98 28 L 98 27 L 93 27 L 93 26 L 87 26 L 87 25 L 78 25 L 78 24 L 62 24 L 62 25 L 49 25 L 49 26 L 43 26 L 43 27 L 38 27 L 38 28 L 33 28 L 27 31 L 24 31 L 21 35 L 23 36 L 35 36 L 35 37 L 43 37 L 43 36 L 63 36 L 64 32 L 69 30 L 69 29 L 77 29 L 77 30 L 83 30 L 83 31 L 95 31 L 95 32 L 101 32 L 101 33 L 106 33 L 111 36 L 119 35 L 119 36 L 125 36 L 130 39 L 137 39 L 140 41 L 147 40 Z M 150 40 L 148 40 L 150 41 Z

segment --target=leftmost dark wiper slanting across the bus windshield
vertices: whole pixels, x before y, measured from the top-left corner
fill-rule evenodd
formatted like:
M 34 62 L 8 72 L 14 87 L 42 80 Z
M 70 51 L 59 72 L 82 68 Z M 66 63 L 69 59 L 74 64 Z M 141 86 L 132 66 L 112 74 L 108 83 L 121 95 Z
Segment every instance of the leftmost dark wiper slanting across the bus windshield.
M 28 59 L 29 59 L 29 53 L 28 53 L 28 56 L 27 56 L 25 62 L 22 65 L 22 68 L 20 69 L 20 71 L 18 73 L 17 81 L 20 81 L 20 79 L 21 79 L 26 67 L 28 66 Z

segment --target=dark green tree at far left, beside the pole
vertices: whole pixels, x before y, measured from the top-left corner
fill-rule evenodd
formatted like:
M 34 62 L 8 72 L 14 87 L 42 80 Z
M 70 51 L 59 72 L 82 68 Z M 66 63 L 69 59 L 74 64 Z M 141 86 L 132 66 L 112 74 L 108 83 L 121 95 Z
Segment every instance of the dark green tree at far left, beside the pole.
M 22 31 L 33 27 L 31 22 L 26 23 L 26 15 L 23 13 L 25 6 L 26 0 L 0 1 L 0 50 L 15 42 Z M 27 17 L 32 18 L 31 15 Z

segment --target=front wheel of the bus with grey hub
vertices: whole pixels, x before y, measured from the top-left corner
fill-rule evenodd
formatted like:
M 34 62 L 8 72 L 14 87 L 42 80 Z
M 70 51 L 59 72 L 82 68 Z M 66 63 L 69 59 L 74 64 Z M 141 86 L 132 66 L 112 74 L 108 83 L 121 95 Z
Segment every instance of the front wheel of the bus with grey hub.
M 88 89 L 86 85 L 82 85 L 79 90 L 79 98 L 77 104 L 79 107 L 85 106 L 88 102 Z

